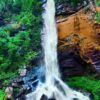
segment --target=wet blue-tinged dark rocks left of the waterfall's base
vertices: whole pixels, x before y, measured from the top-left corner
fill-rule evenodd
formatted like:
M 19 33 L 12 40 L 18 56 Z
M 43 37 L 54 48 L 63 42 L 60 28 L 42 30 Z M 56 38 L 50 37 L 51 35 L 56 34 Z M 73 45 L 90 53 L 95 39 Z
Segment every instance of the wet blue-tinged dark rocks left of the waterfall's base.
M 13 78 L 10 80 L 10 84 L 14 89 L 18 89 L 18 93 L 15 94 L 15 98 L 20 98 L 26 94 L 36 90 L 39 82 L 44 82 L 44 67 L 35 67 L 30 70 L 22 70 L 24 74 L 21 73 L 20 77 Z

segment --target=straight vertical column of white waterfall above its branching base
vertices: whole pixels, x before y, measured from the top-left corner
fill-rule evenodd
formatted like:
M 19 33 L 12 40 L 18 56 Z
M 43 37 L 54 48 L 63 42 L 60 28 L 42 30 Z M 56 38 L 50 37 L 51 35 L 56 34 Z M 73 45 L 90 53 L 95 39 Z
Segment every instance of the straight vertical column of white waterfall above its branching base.
M 44 27 L 42 31 L 42 46 L 44 51 L 44 64 L 46 68 L 46 82 L 52 76 L 60 77 L 57 62 L 57 30 L 55 23 L 55 4 L 48 0 L 43 13 Z M 50 83 L 51 84 L 51 83 Z

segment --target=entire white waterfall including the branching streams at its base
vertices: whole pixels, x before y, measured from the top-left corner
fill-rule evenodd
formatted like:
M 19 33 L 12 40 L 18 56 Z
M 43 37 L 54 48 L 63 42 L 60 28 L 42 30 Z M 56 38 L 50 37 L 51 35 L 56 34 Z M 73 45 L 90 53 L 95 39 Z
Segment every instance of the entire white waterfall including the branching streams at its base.
M 40 83 L 35 92 L 26 96 L 27 100 L 41 100 L 43 95 L 55 100 L 89 100 L 87 96 L 70 89 L 60 79 L 57 63 L 57 30 L 55 23 L 54 0 L 47 0 L 43 13 L 44 27 L 42 31 L 42 46 L 44 50 L 44 66 L 46 82 Z M 43 99 L 42 99 L 43 100 Z

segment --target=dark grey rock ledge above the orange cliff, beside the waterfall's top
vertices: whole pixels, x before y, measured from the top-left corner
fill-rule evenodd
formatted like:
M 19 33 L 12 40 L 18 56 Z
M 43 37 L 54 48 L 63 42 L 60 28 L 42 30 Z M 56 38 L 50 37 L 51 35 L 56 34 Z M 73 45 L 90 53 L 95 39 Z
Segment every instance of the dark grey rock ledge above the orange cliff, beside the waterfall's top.
M 56 16 L 70 15 L 88 4 L 88 0 L 59 0 L 56 2 Z

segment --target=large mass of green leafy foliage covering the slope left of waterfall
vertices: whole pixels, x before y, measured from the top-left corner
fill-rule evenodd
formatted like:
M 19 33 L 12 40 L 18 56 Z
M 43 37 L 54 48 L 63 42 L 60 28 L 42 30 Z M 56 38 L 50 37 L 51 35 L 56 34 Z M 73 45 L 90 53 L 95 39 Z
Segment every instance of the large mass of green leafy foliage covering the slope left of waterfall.
M 40 0 L 0 0 L 5 26 L 0 27 L 0 72 L 27 65 L 40 50 Z

